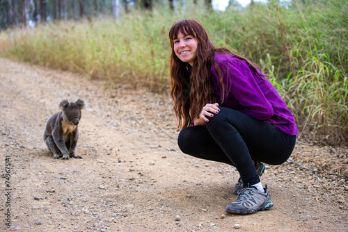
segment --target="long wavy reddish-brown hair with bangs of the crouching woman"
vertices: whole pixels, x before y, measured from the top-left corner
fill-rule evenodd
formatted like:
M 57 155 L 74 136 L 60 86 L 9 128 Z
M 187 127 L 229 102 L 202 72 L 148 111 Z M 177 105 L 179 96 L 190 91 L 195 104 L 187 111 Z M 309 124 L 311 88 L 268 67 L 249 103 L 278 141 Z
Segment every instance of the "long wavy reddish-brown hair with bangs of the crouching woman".
M 173 40 L 177 38 L 179 32 L 183 35 L 191 35 L 198 42 L 196 60 L 192 68 L 189 63 L 182 62 L 175 55 Z M 209 40 L 205 28 L 192 19 L 184 19 L 173 24 L 169 31 L 169 40 L 172 48 L 170 58 L 170 92 L 174 100 L 173 108 L 175 115 L 179 119 L 178 126 L 182 126 L 182 128 L 192 124 L 192 120 L 200 115 L 206 103 L 215 102 L 214 90 L 210 78 L 212 65 L 214 65 L 214 68 L 219 74 L 220 88 L 223 94 L 221 103 L 226 96 L 228 87 L 223 84 L 223 74 L 218 64 L 214 61 L 214 52 L 228 53 L 231 56 L 245 60 L 251 66 L 251 69 L 255 71 L 259 68 L 247 58 L 239 56 L 225 47 L 214 47 Z M 258 72 L 256 71 L 256 73 Z

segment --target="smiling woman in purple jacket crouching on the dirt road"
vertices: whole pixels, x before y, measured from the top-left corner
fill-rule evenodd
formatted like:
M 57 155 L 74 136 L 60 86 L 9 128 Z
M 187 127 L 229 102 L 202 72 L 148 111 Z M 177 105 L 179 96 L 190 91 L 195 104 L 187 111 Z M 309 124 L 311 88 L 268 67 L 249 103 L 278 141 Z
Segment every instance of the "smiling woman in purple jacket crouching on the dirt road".
M 294 117 L 273 85 L 250 60 L 216 48 L 202 25 L 176 22 L 171 41 L 171 97 L 182 152 L 234 165 L 237 199 L 228 213 L 271 208 L 259 176 L 264 165 L 290 157 L 298 133 Z

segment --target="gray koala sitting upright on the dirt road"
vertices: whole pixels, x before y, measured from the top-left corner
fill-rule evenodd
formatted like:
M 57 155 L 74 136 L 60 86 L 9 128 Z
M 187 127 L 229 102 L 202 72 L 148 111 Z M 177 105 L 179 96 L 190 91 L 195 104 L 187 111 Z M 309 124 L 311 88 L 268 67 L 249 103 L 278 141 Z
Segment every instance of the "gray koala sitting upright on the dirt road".
M 78 126 L 84 105 L 84 101 L 80 99 L 75 102 L 63 100 L 59 103 L 61 111 L 47 119 L 43 139 L 49 151 L 54 154 L 53 158 L 82 158 L 75 155 L 75 149 L 79 140 Z

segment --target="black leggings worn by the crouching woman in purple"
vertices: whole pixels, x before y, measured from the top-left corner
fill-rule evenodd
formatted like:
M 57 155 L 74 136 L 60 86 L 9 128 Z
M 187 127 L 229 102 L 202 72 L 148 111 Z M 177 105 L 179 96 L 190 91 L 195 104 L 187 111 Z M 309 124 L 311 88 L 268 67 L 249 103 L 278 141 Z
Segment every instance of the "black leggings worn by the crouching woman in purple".
M 260 182 L 253 160 L 280 165 L 290 157 L 296 135 L 237 110 L 220 107 L 205 126 L 182 129 L 177 138 L 185 154 L 234 165 L 244 187 Z

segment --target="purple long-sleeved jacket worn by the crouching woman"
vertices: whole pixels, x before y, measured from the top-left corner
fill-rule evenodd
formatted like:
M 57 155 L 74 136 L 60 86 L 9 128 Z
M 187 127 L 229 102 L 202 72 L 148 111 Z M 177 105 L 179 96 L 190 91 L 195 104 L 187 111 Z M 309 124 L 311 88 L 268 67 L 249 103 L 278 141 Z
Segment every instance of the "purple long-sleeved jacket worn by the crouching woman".
M 219 74 L 212 65 L 212 83 L 219 106 L 232 108 L 255 119 L 274 124 L 288 135 L 298 133 L 294 116 L 269 80 L 264 80 L 251 71 L 244 60 L 226 53 L 215 53 L 214 60 L 223 72 L 223 83 L 230 86 L 221 103 Z M 258 72 L 262 74 L 260 70 Z

